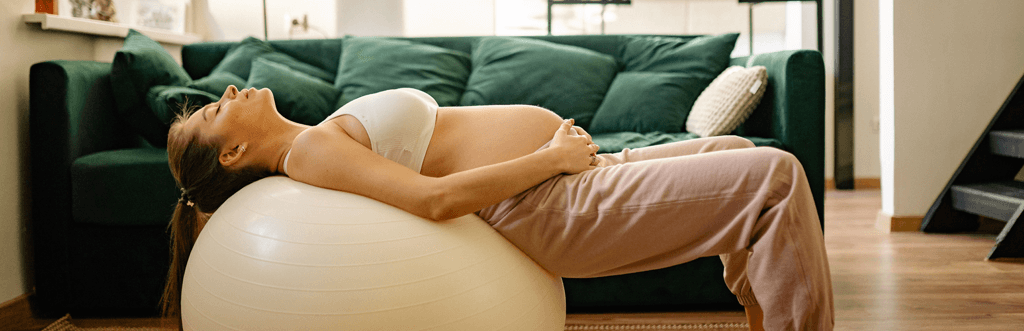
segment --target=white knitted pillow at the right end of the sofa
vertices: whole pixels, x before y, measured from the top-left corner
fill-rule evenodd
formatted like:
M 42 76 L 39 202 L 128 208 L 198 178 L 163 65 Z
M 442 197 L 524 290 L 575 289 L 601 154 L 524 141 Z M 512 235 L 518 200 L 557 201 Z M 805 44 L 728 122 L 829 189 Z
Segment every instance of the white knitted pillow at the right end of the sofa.
M 686 131 L 701 137 L 732 132 L 754 113 L 767 85 L 764 67 L 729 67 L 693 101 Z

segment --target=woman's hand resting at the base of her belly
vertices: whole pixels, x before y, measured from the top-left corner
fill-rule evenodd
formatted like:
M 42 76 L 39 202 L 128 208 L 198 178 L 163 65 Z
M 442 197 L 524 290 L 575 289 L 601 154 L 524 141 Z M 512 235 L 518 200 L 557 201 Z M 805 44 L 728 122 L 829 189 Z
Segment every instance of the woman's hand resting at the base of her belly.
M 583 134 L 580 134 L 577 127 L 572 126 L 574 123 L 572 119 L 562 122 L 555 131 L 551 144 L 548 146 L 548 150 L 558 157 L 556 162 L 558 168 L 567 174 L 577 174 L 597 167 L 597 144 L 594 144 L 590 134 L 586 134 L 583 128 L 579 129 L 583 131 Z

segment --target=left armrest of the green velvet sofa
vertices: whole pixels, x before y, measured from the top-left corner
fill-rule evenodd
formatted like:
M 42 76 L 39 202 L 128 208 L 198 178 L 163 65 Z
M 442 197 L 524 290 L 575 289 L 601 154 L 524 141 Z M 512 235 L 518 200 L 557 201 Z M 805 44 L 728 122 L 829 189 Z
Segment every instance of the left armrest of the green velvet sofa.
M 36 296 L 41 309 L 71 300 L 71 165 L 141 139 L 115 115 L 111 64 L 55 60 L 29 74 L 29 143 Z

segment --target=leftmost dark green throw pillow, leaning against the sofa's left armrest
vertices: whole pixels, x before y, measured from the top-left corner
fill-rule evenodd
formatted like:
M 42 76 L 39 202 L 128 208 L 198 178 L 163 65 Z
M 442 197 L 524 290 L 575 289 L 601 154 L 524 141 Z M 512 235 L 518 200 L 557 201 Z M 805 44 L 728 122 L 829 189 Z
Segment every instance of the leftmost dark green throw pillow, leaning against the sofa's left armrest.
M 146 93 L 156 85 L 183 86 L 191 78 L 171 54 L 145 35 L 129 30 L 124 46 L 114 54 L 111 87 L 118 112 L 151 144 L 167 146 L 167 125 L 146 105 Z

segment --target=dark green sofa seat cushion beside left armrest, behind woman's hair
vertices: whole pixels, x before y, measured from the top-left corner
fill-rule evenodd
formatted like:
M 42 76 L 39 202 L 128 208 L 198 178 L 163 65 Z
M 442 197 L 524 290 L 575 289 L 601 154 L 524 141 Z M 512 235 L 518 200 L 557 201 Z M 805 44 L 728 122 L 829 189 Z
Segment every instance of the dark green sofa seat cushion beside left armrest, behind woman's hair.
M 104 151 L 71 166 L 72 218 L 103 225 L 166 224 L 180 192 L 167 151 L 142 148 Z

